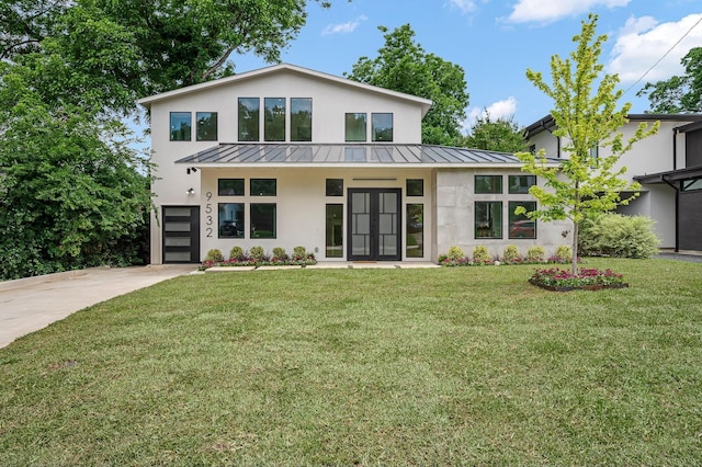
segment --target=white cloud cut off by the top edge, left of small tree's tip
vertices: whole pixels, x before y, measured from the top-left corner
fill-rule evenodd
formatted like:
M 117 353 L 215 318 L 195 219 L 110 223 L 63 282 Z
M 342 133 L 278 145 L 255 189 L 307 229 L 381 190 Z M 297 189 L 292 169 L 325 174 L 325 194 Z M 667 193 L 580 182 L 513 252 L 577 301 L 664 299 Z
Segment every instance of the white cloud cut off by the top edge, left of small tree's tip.
M 510 23 L 551 23 L 591 11 L 596 7 L 626 7 L 631 0 L 519 0 L 507 18 Z

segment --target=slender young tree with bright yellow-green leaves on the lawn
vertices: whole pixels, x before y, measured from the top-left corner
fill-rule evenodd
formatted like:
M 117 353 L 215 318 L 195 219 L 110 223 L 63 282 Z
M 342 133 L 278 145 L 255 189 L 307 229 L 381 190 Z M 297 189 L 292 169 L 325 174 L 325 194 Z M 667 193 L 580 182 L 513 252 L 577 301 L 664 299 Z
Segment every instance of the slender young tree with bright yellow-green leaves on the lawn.
M 590 14 L 582 22 L 580 35 L 573 38 L 577 48 L 570 53 L 570 59 L 563 60 L 557 55 L 551 58 L 553 84 L 544 82 L 541 72 L 526 70 L 526 78 L 536 88 L 554 100 L 551 111 L 557 129 L 554 136 L 565 138 L 564 152 L 569 156 L 558 164 L 548 167 L 545 152 L 537 156 L 519 152 L 524 163 L 522 170 L 545 180 L 544 186 L 532 186 L 529 192 L 539 201 L 540 208 L 530 213 L 520 206 L 517 214 L 526 214 L 530 218 L 543 220 L 570 219 L 573 221 L 573 261 L 571 272 L 577 274 L 578 223 L 588 213 L 608 212 L 618 205 L 626 205 L 638 194 L 638 183 L 629 183 L 621 176 L 625 167 L 616 168 L 623 153 L 634 143 L 658 130 L 658 122 L 650 128 L 646 123 L 638 125 L 635 134 L 623 141 L 618 130 L 629 122 L 626 115 L 631 103 L 619 111 L 616 101 L 622 90 L 614 88 L 619 83 L 616 75 L 601 75 L 603 66 L 598 62 L 605 35 L 597 36 L 597 15 Z M 597 92 L 592 88 L 599 81 Z M 610 148 L 610 156 L 593 157 L 592 148 Z M 622 192 L 633 192 L 622 198 Z

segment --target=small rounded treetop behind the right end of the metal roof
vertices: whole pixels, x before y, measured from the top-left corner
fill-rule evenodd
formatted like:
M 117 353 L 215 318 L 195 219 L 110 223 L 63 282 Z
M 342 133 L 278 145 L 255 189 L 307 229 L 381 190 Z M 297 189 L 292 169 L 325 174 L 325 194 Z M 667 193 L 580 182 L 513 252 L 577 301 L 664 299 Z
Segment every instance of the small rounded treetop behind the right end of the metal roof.
M 467 148 L 501 152 L 526 150 L 524 136 L 513 117 L 500 117 L 494 121 L 487 112 L 485 116 L 477 118 L 462 145 Z

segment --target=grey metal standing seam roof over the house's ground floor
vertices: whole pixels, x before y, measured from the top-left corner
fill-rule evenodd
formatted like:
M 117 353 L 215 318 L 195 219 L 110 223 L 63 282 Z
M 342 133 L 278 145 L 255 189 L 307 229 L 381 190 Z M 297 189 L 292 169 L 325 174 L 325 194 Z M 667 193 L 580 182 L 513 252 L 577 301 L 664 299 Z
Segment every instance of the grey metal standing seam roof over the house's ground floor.
M 558 159 L 548 159 L 558 163 Z M 188 164 L 521 164 L 508 152 L 432 145 L 230 144 L 223 143 L 177 160 Z

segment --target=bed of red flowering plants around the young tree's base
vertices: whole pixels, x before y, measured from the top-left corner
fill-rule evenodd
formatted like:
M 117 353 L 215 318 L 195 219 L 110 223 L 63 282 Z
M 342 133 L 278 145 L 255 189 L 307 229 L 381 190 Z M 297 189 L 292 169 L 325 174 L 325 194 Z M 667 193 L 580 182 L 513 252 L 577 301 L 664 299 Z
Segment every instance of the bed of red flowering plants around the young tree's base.
M 534 270 L 529 278 L 534 285 L 555 289 L 625 287 L 624 276 L 610 269 L 581 267 L 577 274 L 558 267 Z

